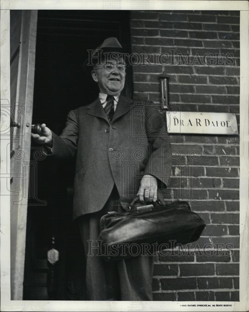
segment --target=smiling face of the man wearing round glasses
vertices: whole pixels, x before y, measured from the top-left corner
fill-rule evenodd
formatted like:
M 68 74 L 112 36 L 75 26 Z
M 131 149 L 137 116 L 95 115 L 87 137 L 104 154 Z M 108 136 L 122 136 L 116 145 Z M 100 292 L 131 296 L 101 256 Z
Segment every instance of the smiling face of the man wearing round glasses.
M 100 93 L 120 94 L 125 85 L 123 58 L 120 57 L 118 62 L 107 60 L 103 65 L 94 65 L 92 77 L 97 82 Z

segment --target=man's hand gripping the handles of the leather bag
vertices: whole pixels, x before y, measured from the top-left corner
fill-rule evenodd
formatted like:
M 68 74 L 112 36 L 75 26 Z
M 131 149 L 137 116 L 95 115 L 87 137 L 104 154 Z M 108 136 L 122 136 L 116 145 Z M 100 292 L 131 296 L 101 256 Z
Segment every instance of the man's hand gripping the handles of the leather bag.
M 150 174 L 145 174 L 140 182 L 140 188 L 137 195 L 139 199 L 145 202 L 155 202 L 157 199 L 157 181 Z

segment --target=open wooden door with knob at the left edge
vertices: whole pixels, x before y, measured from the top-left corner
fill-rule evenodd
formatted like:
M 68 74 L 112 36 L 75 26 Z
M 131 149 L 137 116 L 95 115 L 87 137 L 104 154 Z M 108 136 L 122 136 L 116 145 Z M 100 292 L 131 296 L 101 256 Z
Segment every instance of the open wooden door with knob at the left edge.
M 11 92 L 16 92 L 16 99 L 15 103 L 11 103 L 11 106 L 13 106 L 15 112 L 13 115 L 14 121 L 20 123 L 20 127 L 15 128 L 12 136 L 15 140 L 15 144 L 12 146 L 14 153 L 12 153 L 13 151 L 10 152 L 13 164 L 11 166 L 10 187 L 11 192 L 16 192 L 10 198 L 11 300 L 23 299 L 36 26 L 37 10 L 22 10 L 20 45 L 15 51 L 12 51 L 11 55 L 12 61 L 18 57 L 17 83 L 12 86 L 11 90 Z M 22 111 L 22 117 L 18 116 L 18 110 L 20 110 L 18 107 L 20 106 L 24 110 Z M 18 117 L 20 117 L 19 120 Z

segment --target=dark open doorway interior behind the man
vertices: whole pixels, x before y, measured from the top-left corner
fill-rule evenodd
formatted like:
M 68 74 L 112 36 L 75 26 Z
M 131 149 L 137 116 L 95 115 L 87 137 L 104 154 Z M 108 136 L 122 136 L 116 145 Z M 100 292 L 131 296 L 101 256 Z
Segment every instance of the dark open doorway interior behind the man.
M 84 74 L 83 62 L 86 50 L 108 37 L 117 37 L 130 51 L 129 11 L 38 11 L 33 124 L 45 123 L 60 134 L 68 112 L 96 98 L 97 86 Z M 123 91 L 128 96 L 131 77 L 128 72 Z M 31 177 L 37 198 L 28 206 L 23 299 L 84 300 L 83 250 L 72 222 L 74 159 L 47 157 L 38 162 L 36 176 Z M 59 261 L 51 268 L 46 258 L 52 237 Z

